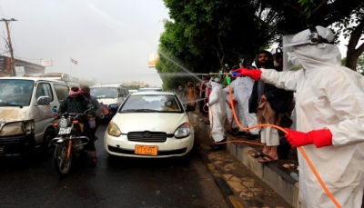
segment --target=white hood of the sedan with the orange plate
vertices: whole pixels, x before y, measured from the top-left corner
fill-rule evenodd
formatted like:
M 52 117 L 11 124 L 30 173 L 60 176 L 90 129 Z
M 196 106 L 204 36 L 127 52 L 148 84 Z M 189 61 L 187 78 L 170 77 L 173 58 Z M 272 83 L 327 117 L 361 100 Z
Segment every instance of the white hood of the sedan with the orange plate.
M 188 122 L 188 117 L 187 114 L 123 113 L 116 114 L 112 122 L 123 134 L 144 131 L 173 134 L 179 125 Z

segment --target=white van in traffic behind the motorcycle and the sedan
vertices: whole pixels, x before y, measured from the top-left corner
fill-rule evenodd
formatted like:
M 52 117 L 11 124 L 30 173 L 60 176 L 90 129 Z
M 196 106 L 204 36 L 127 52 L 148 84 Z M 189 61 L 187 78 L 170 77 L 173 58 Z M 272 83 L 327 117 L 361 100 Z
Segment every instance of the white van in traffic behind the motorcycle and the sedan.
M 90 87 L 90 94 L 96 96 L 99 103 L 106 105 L 109 114 L 105 118 L 112 118 L 129 91 L 123 84 L 98 84 Z

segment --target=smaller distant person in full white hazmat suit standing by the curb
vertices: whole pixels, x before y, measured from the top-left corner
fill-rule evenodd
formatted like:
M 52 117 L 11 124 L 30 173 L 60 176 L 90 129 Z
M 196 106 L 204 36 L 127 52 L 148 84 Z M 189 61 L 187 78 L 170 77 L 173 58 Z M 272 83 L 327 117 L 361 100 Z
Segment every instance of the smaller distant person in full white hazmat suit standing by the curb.
M 226 93 L 218 78 L 211 78 L 211 94 L 208 98 L 208 117 L 210 119 L 211 136 L 215 143 L 225 141 L 224 124 L 227 120 L 227 109 L 225 108 Z M 222 144 L 214 144 L 210 151 L 222 150 Z

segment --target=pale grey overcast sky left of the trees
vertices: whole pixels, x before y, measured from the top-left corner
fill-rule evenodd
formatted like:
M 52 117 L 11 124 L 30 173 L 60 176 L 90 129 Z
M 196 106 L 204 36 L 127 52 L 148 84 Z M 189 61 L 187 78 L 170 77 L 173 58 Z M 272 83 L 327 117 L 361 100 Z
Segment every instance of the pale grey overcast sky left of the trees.
M 162 85 L 147 66 L 168 18 L 162 0 L 2 0 L 0 9 L 0 18 L 17 20 L 10 24 L 15 58 L 35 64 L 52 59 L 46 73 Z M 7 35 L 0 24 L 3 54 Z

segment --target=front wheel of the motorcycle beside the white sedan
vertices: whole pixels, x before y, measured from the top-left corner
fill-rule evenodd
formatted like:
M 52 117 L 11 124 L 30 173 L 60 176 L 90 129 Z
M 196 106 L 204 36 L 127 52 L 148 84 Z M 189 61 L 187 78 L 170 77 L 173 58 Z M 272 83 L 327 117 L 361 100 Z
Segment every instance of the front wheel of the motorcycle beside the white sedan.
M 53 163 L 55 164 L 56 173 L 59 175 L 66 175 L 71 169 L 72 156 L 67 159 L 67 147 L 67 142 L 57 144 L 53 155 Z

